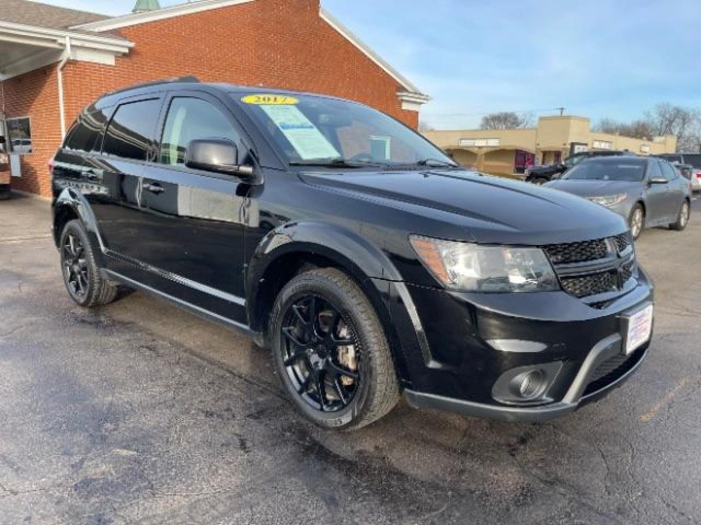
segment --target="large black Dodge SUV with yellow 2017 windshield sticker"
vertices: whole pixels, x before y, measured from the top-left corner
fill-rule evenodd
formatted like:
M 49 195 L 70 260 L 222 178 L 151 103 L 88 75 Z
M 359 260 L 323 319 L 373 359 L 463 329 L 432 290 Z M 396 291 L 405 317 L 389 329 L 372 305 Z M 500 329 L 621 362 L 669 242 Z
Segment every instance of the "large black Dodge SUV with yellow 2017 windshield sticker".
M 648 349 L 653 291 L 622 218 L 458 167 L 362 104 L 134 87 L 81 113 L 52 171 L 75 302 L 127 286 L 247 332 L 322 426 L 364 426 L 402 393 L 540 421 Z

